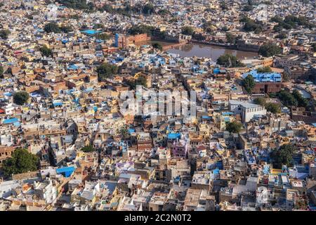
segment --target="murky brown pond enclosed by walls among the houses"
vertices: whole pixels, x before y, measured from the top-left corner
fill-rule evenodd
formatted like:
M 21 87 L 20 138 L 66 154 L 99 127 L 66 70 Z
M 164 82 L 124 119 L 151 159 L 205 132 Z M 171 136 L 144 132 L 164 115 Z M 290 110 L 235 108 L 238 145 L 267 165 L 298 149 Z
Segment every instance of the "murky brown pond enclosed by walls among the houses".
M 213 61 L 216 61 L 220 56 L 226 53 L 236 56 L 239 60 L 251 59 L 258 56 L 258 53 L 255 52 L 225 49 L 221 46 L 211 46 L 205 44 L 185 44 L 166 51 L 169 53 L 179 54 L 181 57 L 197 56 L 211 58 Z

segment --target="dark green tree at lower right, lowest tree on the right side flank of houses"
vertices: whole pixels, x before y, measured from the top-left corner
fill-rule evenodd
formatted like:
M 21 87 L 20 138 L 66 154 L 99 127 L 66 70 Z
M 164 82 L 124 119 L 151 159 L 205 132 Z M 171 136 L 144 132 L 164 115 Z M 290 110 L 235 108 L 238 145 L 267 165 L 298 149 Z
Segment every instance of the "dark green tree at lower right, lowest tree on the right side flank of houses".
M 295 151 L 296 147 L 292 144 L 285 144 L 279 149 L 273 150 L 270 154 L 273 167 L 282 169 L 282 165 L 287 165 L 288 167 L 293 165 L 293 156 Z

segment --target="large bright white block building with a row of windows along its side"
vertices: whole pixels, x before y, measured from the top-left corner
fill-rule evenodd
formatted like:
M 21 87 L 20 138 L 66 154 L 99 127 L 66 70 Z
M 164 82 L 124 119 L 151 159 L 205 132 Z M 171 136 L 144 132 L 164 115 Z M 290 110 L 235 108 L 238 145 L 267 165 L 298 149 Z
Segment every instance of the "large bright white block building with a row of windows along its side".
M 267 110 L 264 106 L 252 103 L 230 100 L 228 106 L 230 111 L 234 112 L 235 115 L 241 116 L 242 122 L 249 122 L 254 117 L 267 114 Z

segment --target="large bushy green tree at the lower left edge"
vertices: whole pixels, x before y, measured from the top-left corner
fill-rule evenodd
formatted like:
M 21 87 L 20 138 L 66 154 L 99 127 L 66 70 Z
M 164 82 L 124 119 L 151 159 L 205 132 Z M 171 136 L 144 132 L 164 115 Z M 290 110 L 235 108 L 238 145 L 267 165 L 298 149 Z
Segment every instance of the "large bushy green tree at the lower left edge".
M 39 165 L 37 155 L 29 153 L 25 148 L 16 148 L 11 158 L 4 160 L 2 169 L 5 176 L 36 171 Z

